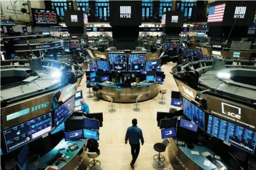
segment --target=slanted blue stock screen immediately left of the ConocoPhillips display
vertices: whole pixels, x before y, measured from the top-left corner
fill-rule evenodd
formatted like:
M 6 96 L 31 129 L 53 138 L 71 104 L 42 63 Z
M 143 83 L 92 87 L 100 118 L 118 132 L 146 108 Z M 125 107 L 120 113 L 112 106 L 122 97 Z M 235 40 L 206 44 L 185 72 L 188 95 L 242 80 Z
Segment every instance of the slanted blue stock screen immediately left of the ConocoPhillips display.
M 184 104 L 184 114 L 197 124 L 202 130 L 205 130 L 205 112 L 200 108 L 196 107 L 194 104 L 189 102 L 185 97 L 183 97 Z

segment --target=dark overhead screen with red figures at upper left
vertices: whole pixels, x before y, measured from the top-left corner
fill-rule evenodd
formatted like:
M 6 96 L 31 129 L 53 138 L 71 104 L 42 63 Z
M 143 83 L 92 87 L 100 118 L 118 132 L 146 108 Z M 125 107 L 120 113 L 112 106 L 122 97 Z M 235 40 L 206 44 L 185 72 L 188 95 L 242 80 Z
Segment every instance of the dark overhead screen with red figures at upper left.
M 32 10 L 32 17 L 34 24 L 36 25 L 56 25 L 57 16 L 56 13 L 50 10 L 43 10 L 43 9 L 31 9 Z

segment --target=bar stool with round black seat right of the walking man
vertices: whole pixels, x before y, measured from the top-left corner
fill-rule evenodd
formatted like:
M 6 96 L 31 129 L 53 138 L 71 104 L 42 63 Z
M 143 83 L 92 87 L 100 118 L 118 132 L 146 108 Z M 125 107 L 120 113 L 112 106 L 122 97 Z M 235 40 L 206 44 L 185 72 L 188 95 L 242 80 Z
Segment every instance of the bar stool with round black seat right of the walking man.
M 165 157 L 161 155 L 161 152 L 165 152 L 166 147 L 169 145 L 169 141 L 164 139 L 162 143 L 154 144 L 154 150 L 158 152 L 158 154 L 154 155 L 152 166 L 154 169 L 164 169 L 165 168 Z

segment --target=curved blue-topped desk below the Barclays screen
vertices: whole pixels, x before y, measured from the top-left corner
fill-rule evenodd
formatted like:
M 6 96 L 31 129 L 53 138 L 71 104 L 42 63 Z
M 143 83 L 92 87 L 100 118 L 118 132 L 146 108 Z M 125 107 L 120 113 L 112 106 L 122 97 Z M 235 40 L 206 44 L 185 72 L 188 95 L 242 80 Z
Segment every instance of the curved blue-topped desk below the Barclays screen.
M 50 158 L 53 157 L 53 155 L 57 154 L 59 149 L 62 147 L 65 147 L 65 150 L 61 150 L 59 151 L 61 154 L 66 154 L 67 149 L 69 149 L 69 145 L 73 144 L 73 143 L 77 143 L 79 149 L 75 150 L 75 151 L 70 151 L 69 152 L 73 154 L 72 157 L 69 158 L 69 161 L 64 162 L 62 161 L 62 163 L 60 163 L 58 165 L 58 169 L 75 169 L 75 167 L 77 167 L 77 163 L 80 160 L 80 158 L 84 158 L 83 163 L 80 166 L 83 166 L 82 169 L 86 169 L 89 163 L 89 158 L 87 157 L 87 155 L 85 154 L 85 150 L 83 150 L 83 152 L 78 155 L 78 152 L 83 148 L 84 144 L 86 143 L 87 140 L 83 139 L 83 141 L 65 141 L 65 139 L 63 138 L 59 144 L 57 146 L 55 146 L 50 152 L 48 152 L 48 154 L 44 155 L 43 157 L 41 157 L 39 159 L 39 166 L 34 167 L 34 165 L 28 165 L 28 170 L 37 170 L 37 168 L 47 168 L 47 161 L 50 160 Z M 43 146 L 39 146 L 39 147 L 43 147 Z M 52 166 L 56 166 L 55 164 L 53 164 Z

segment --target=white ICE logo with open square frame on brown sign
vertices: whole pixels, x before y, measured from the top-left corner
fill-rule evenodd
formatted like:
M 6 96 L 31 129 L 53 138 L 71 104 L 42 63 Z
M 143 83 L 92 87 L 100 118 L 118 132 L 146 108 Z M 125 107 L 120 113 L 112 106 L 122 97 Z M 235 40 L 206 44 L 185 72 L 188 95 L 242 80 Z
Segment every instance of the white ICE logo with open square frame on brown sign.
M 234 105 L 221 103 L 222 113 L 232 118 L 241 119 L 241 108 Z

